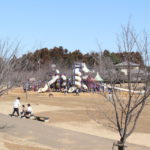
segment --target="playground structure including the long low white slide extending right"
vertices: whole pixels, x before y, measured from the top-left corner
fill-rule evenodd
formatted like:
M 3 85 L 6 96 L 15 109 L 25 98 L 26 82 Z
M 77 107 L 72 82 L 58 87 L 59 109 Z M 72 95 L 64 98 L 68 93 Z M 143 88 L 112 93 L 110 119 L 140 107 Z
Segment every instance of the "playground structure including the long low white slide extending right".
M 92 75 L 95 74 L 95 77 Z M 35 79 L 31 80 L 33 83 Z M 31 87 L 31 88 L 30 88 Z M 90 71 L 85 63 L 76 63 L 73 67 L 73 73 L 70 76 L 66 76 L 65 74 L 61 74 L 60 71 L 56 68 L 56 65 L 52 67 L 52 74 L 51 79 L 44 83 L 44 86 L 42 87 L 42 83 L 36 86 L 36 88 L 32 88 L 32 85 L 30 83 L 25 84 L 25 90 L 28 89 L 34 89 L 34 91 L 37 91 L 39 93 L 47 92 L 49 89 L 53 89 L 53 91 L 62 91 L 62 92 L 68 92 L 72 93 L 75 92 L 76 89 L 79 91 L 105 91 L 105 89 L 114 89 L 118 91 L 128 92 L 128 89 L 120 88 L 120 87 L 111 87 L 110 85 L 103 84 L 103 79 L 99 75 L 98 72 L 93 73 L 93 71 Z M 24 90 L 24 91 L 25 91 Z M 133 93 L 141 93 L 143 94 L 144 91 L 133 91 Z

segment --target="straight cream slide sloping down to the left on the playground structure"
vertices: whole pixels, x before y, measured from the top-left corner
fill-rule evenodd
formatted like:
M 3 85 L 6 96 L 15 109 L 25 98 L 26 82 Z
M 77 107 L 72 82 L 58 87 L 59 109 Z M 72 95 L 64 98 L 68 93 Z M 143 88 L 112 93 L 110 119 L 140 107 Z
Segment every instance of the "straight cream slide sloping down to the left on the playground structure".
M 58 79 L 59 79 L 58 75 L 57 76 L 53 76 L 52 79 L 48 83 L 45 84 L 44 88 L 39 88 L 38 93 L 46 92 L 48 90 L 49 86 L 51 84 L 55 83 L 56 80 L 58 80 Z

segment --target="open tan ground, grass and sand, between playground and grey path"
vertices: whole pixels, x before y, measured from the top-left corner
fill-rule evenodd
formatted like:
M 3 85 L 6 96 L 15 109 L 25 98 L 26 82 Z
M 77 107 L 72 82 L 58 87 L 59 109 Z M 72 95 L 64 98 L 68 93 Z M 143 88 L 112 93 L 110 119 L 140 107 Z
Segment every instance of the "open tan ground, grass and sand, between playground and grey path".
M 12 112 L 12 103 L 14 99 L 20 96 L 21 103 L 31 103 L 34 114 L 50 117 L 50 122 L 46 125 L 96 135 L 107 139 L 117 140 L 118 134 L 109 127 L 108 121 L 101 112 L 97 111 L 97 106 L 103 107 L 109 113 L 109 105 L 103 100 L 100 94 L 82 93 L 80 96 L 74 94 L 64 95 L 54 93 L 54 97 L 48 96 L 48 93 L 28 92 L 28 99 L 22 89 L 16 88 L 9 91 L 8 95 L 0 97 L 0 113 L 9 114 Z M 96 115 L 95 115 L 96 114 Z M 129 137 L 128 142 L 147 146 L 150 148 L 150 105 L 147 105 L 140 117 L 136 131 Z M 97 123 L 96 121 L 99 123 Z M 0 143 L 3 149 L 15 148 L 20 150 L 20 143 L 13 144 L 8 141 Z M 22 146 L 24 149 L 34 150 L 35 147 Z M 22 148 L 22 150 L 23 150 Z M 44 150 L 45 148 L 37 148 Z

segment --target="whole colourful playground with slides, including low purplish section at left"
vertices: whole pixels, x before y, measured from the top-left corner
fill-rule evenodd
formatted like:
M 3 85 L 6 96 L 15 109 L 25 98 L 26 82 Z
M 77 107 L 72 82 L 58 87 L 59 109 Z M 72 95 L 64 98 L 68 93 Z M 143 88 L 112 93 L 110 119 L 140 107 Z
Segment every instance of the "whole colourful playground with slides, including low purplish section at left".
M 98 72 L 89 70 L 85 63 L 74 64 L 70 74 L 60 72 L 55 64 L 52 64 L 47 80 L 36 80 L 34 77 L 24 81 L 23 90 L 37 91 L 44 93 L 47 91 L 57 91 L 64 93 L 104 91 L 103 79 Z

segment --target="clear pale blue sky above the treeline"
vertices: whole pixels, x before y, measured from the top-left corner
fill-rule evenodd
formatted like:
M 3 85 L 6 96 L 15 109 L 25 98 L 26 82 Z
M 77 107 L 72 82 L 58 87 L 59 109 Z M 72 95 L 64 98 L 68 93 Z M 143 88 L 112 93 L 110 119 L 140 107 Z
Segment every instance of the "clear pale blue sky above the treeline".
M 18 55 L 63 46 L 82 53 L 117 51 L 130 20 L 150 32 L 149 0 L 0 0 L 0 40 L 21 41 Z

